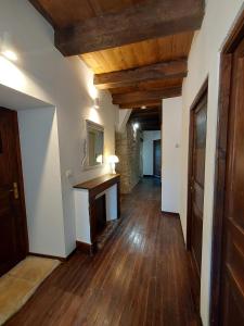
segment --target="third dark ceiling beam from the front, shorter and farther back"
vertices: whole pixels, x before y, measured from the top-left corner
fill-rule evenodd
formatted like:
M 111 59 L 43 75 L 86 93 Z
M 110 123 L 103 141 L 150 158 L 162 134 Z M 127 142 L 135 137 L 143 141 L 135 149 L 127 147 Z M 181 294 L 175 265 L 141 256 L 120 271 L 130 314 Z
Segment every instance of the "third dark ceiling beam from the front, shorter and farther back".
M 181 87 L 165 88 L 160 90 L 151 91 L 133 91 L 127 93 L 113 95 L 114 104 L 128 104 L 141 102 L 142 105 L 146 105 L 146 102 L 160 101 L 165 98 L 174 98 L 181 95 Z

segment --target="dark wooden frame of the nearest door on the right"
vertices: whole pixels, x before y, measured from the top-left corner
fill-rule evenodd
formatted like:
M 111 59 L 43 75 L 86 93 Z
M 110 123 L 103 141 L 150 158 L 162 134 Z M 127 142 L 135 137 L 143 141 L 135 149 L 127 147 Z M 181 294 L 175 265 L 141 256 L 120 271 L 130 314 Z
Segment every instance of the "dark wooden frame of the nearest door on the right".
M 244 11 L 237 20 L 220 54 L 220 79 L 218 125 L 215 159 L 215 192 L 211 240 L 211 287 L 210 287 L 210 325 L 217 326 L 220 321 L 221 265 L 223 249 L 223 218 L 226 178 L 228 167 L 228 130 L 230 117 L 231 79 L 233 53 L 244 38 Z

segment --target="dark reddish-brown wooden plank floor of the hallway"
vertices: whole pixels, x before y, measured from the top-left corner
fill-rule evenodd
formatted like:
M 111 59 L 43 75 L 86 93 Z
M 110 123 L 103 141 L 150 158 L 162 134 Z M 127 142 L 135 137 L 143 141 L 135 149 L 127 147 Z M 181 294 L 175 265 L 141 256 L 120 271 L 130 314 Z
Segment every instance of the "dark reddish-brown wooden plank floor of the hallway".
M 75 253 L 7 325 L 197 325 L 180 221 L 160 213 L 160 185 L 123 198 L 121 223 L 95 256 Z

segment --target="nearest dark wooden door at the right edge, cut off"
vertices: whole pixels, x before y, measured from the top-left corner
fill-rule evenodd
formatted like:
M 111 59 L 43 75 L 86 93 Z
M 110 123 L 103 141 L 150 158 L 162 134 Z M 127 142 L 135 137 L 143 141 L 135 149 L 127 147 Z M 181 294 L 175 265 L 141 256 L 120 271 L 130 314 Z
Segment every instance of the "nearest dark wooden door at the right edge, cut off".
M 228 129 L 220 325 L 244 325 L 244 41 L 234 53 Z

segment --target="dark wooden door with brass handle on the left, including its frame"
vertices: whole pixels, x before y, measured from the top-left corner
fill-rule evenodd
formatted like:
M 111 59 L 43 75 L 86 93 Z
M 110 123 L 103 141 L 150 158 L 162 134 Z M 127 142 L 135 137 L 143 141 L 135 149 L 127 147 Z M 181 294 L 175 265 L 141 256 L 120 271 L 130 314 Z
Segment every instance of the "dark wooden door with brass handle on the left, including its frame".
M 0 109 L 0 275 L 28 249 L 17 114 Z

